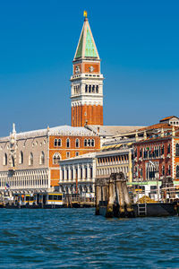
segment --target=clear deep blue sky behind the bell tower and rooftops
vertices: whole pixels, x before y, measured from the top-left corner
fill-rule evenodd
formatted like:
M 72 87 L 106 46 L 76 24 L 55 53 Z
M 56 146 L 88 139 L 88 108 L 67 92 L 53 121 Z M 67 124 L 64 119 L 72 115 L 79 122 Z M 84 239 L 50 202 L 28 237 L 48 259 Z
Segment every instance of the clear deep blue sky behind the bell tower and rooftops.
M 102 59 L 105 125 L 179 116 L 179 2 L 0 1 L 0 135 L 71 124 L 83 10 Z

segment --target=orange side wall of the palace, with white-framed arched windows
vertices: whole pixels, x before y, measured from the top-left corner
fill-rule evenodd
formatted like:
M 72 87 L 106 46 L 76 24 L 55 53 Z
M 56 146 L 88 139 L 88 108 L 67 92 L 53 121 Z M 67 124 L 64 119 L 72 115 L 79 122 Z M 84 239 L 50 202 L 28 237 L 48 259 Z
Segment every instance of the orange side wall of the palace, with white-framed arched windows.
M 84 127 L 59 126 L 57 128 L 56 134 L 50 132 L 49 135 L 51 187 L 58 186 L 59 161 L 88 152 L 97 152 L 100 149 L 100 138 Z

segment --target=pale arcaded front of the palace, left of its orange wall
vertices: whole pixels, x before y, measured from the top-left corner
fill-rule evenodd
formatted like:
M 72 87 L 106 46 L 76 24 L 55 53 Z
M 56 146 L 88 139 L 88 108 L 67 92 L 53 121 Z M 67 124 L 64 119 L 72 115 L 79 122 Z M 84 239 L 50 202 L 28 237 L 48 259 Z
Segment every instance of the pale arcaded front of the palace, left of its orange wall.
M 50 189 L 48 129 L 0 138 L 0 194 Z

